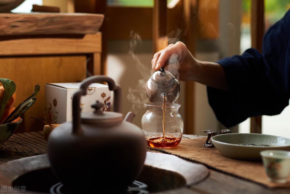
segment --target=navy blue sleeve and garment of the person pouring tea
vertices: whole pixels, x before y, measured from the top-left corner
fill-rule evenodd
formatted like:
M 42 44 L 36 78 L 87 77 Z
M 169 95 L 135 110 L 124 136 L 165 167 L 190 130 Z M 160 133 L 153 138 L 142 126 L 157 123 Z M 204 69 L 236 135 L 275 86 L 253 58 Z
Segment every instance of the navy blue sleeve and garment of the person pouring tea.
M 226 127 L 251 116 L 276 115 L 290 98 L 290 10 L 263 37 L 262 53 L 254 48 L 218 61 L 229 92 L 207 87 L 208 100 Z

